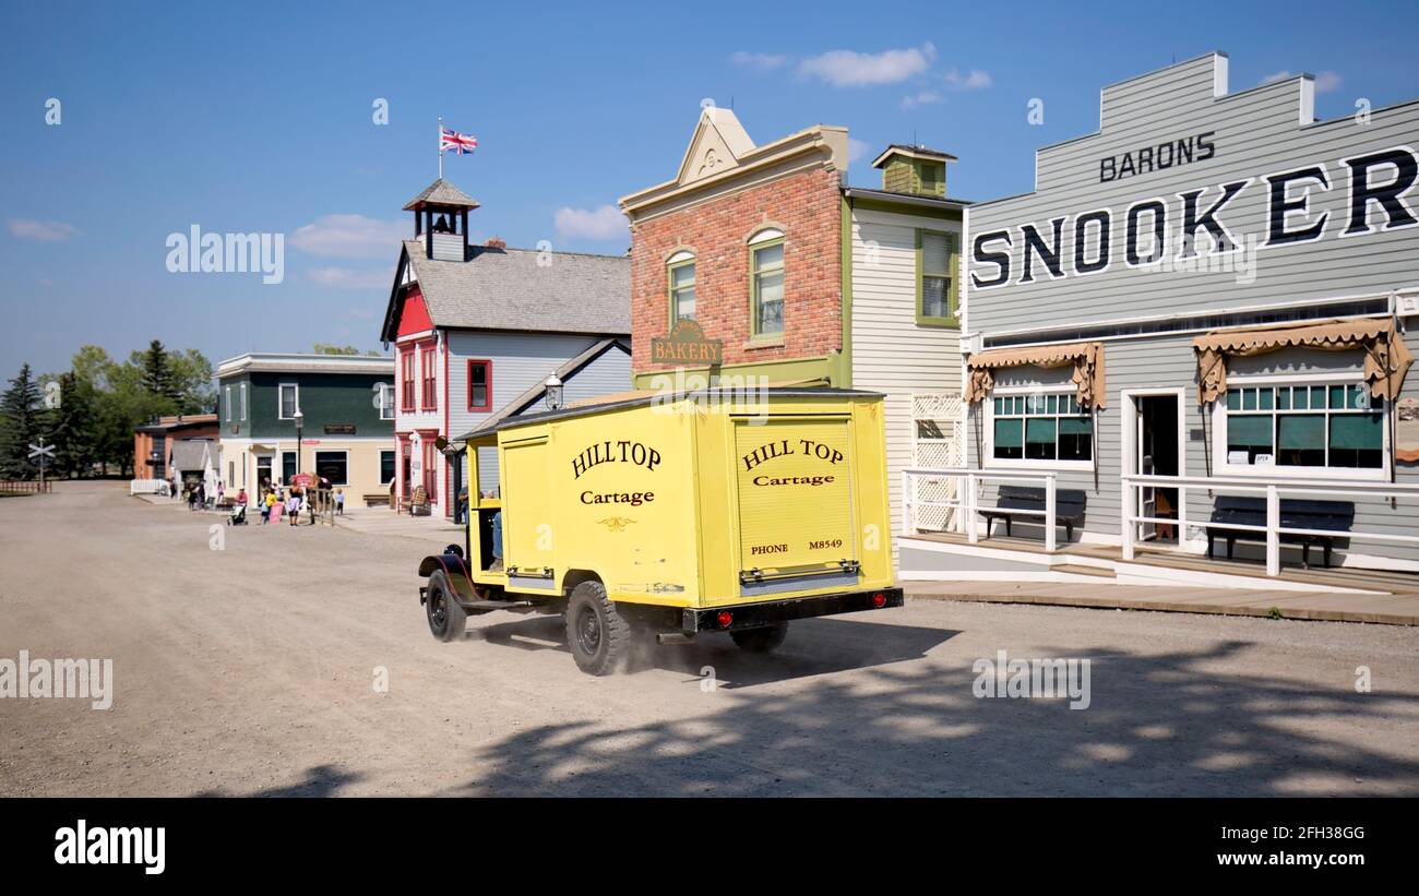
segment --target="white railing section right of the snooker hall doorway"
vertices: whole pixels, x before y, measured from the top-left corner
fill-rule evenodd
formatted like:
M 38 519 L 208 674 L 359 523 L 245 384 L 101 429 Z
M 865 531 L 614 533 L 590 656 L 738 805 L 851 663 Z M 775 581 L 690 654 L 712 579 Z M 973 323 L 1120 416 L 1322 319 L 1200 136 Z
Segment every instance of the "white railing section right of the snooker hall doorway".
M 1166 525 L 1176 526 L 1179 542 L 1188 537 L 1188 492 L 1209 491 L 1225 493 L 1263 495 L 1266 498 L 1266 525 L 1252 526 L 1243 523 L 1218 525 L 1218 529 L 1233 532 L 1256 532 L 1266 542 L 1266 574 L 1281 574 L 1281 536 L 1315 536 L 1315 537 L 1344 537 L 1349 540 L 1393 542 L 1399 544 L 1419 544 L 1419 536 L 1393 534 L 1386 532 L 1362 532 L 1354 525 L 1347 532 L 1331 529 L 1296 529 L 1281 526 L 1281 496 L 1308 495 L 1313 498 L 1419 498 L 1419 485 L 1396 485 L 1391 482 L 1349 482 L 1314 479 L 1307 482 L 1276 482 L 1274 479 L 1219 479 L 1210 476 L 1122 476 L 1122 508 L 1120 513 L 1122 525 L 1122 553 L 1124 560 L 1134 559 L 1134 546 L 1138 542 L 1138 525 Z M 1165 488 L 1178 489 L 1178 517 L 1164 519 L 1145 516 L 1139 512 L 1138 489 Z M 1193 523 L 1203 529 L 1210 529 L 1210 522 Z

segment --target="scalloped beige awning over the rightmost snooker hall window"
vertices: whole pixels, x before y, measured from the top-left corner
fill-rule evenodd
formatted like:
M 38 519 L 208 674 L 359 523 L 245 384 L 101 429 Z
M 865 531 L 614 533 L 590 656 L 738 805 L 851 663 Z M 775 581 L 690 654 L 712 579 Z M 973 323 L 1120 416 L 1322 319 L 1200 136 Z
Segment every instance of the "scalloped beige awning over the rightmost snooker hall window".
M 1266 354 L 1286 347 L 1327 352 L 1364 350 L 1365 381 L 1375 397 L 1399 397 L 1413 354 L 1395 330 L 1392 318 L 1365 320 L 1323 320 L 1273 326 L 1213 330 L 1192 340 L 1198 353 L 1198 403 L 1227 394 L 1227 357 Z

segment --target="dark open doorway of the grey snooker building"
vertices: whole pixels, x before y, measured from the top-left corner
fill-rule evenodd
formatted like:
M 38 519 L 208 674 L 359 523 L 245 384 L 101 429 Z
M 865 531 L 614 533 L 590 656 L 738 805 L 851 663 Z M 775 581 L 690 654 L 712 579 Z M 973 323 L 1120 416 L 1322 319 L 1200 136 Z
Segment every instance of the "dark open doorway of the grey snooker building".
M 1128 441 L 1128 472 L 1144 476 L 1181 476 L 1182 458 L 1182 394 L 1179 391 L 1132 393 L 1125 398 L 1132 425 Z M 1154 520 L 1138 523 L 1134 537 L 1139 542 L 1176 544 L 1179 513 L 1176 488 L 1142 486 L 1137 491 L 1138 516 Z

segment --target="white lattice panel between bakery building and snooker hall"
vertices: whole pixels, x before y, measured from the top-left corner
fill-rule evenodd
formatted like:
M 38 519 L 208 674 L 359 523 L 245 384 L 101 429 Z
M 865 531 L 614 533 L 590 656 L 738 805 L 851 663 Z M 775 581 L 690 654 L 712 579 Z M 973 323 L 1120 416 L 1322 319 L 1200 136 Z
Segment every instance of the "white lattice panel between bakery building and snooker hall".
M 961 396 L 921 393 L 911 397 L 911 464 L 918 469 L 944 469 L 965 464 L 961 439 Z M 956 498 L 956 478 L 908 478 L 911 519 L 907 532 L 946 532 L 959 526 L 956 508 L 944 506 Z

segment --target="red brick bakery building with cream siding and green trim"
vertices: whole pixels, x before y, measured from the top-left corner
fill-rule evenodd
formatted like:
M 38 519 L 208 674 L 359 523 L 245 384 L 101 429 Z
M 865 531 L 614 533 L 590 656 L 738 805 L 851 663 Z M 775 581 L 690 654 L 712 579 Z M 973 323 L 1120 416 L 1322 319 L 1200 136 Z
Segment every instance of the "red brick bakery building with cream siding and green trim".
M 663 388 L 678 371 L 884 393 L 900 519 L 898 471 L 961 462 L 968 203 L 946 197 L 954 160 L 890 146 L 873 162 L 883 189 L 853 187 L 844 128 L 815 125 L 758 146 L 732 111 L 704 109 L 674 179 L 620 200 L 631 230 L 636 386 Z M 666 350 L 657 340 L 683 333 L 714 343 L 717 363 L 656 354 Z

